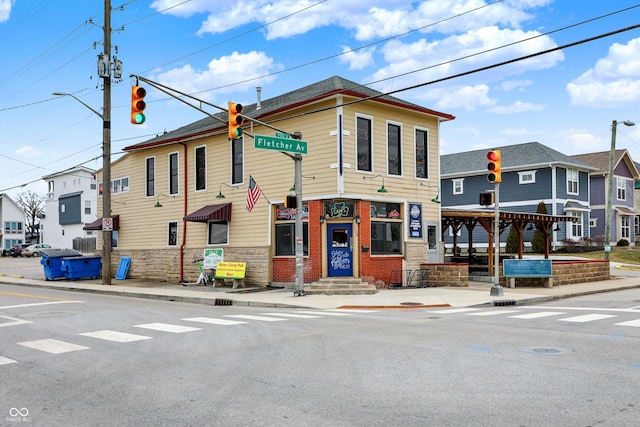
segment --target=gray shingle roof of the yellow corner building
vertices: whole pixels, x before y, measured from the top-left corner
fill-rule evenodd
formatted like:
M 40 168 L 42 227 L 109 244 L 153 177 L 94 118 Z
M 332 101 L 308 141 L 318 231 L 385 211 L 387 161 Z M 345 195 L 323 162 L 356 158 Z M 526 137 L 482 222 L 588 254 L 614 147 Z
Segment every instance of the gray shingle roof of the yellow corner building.
M 304 86 L 300 89 L 285 93 L 283 95 L 276 96 L 274 98 L 261 101 L 261 108 L 257 108 L 257 104 L 244 105 L 242 114 L 247 117 L 254 117 L 260 119 L 267 117 L 274 112 L 286 111 L 288 109 L 295 108 L 298 105 L 325 97 L 333 96 L 338 93 L 350 93 L 362 98 L 375 96 L 379 102 L 386 102 L 388 104 L 398 105 L 404 108 L 409 108 L 415 111 L 420 111 L 425 114 L 434 115 L 440 117 L 443 120 L 453 120 L 455 117 L 425 108 L 421 105 L 412 104 L 394 96 L 382 95 L 377 90 L 370 89 L 361 84 L 352 82 L 339 76 L 329 77 L 328 79 Z M 226 127 L 224 122 L 227 120 L 227 113 L 220 112 L 214 114 L 220 120 L 216 120 L 212 117 L 205 117 L 204 119 L 182 126 L 171 132 L 159 135 L 149 141 L 145 141 L 136 145 L 125 147 L 124 151 L 132 151 L 142 149 L 146 147 L 163 145 L 171 142 L 175 142 L 184 138 L 192 137 L 204 137 L 208 134 L 220 132 Z

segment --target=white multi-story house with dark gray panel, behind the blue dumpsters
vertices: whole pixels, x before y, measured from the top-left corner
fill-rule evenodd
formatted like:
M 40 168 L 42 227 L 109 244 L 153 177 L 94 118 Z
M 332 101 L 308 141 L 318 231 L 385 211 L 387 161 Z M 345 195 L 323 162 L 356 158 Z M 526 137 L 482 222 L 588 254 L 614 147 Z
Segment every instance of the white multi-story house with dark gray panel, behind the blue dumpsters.
M 95 250 L 95 231 L 83 227 L 98 214 L 96 171 L 76 166 L 42 179 L 47 183 L 45 215 L 40 219 L 42 242 L 54 248 L 73 248 L 76 240 L 77 249 Z M 79 245 L 78 239 L 91 244 Z

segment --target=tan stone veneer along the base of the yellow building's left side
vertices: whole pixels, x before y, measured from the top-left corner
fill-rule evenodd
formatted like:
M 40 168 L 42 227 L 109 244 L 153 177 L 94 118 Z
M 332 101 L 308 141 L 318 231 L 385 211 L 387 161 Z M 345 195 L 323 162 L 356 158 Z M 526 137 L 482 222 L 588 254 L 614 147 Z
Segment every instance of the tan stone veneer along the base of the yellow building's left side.
M 269 283 L 268 247 L 224 248 L 224 260 L 246 262 L 245 283 L 247 286 L 263 286 Z M 198 280 L 200 270 L 193 262 L 202 258 L 203 248 L 184 250 L 183 278 L 187 282 Z M 150 282 L 178 283 L 180 280 L 180 259 L 176 249 L 140 249 L 132 251 L 114 250 L 111 274 L 115 277 L 122 257 L 131 258 L 128 278 Z

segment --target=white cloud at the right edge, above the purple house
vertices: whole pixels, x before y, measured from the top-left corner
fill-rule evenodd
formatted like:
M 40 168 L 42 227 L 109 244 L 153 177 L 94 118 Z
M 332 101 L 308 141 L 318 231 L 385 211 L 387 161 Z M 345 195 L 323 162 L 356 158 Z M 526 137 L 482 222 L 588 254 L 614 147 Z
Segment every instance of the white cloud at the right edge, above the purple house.
M 640 100 L 640 38 L 614 43 L 605 58 L 567 84 L 572 105 L 620 106 Z

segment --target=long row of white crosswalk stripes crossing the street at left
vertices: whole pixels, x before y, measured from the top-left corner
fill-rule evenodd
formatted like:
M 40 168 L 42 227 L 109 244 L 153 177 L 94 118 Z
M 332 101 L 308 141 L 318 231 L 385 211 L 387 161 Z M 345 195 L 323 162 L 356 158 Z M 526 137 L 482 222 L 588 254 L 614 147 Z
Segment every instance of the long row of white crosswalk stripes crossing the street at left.
M 234 325 L 246 325 L 258 322 L 286 322 L 290 320 L 307 320 L 307 319 L 323 319 L 327 317 L 342 317 L 353 316 L 362 313 L 375 313 L 376 310 L 358 310 L 346 311 L 346 310 L 296 310 L 296 311 L 281 311 L 281 312 L 268 312 L 253 314 L 228 314 L 221 317 L 187 317 L 180 319 L 179 323 L 164 323 L 153 322 L 132 325 L 132 328 L 136 328 L 136 332 L 140 331 L 154 331 L 168 334 L 184 334 L 190 332 L 201 331 L 208 325 L 214 326 L 234 326 Z M 3 316 L 3 324 L 6 326 L 15 326 L 23 323 L 19 319 Z M 186 322 L 188 325 L 182 323 Z M 89 338 L 89 340 L 99 340 L 110 343 L 127 344 L 134 343 L 143 340 L 152 340 L 153 336 L 146 335 L 145 332 L 132 333 L 125 331 L 116 331 L 111 329 L 101 329 L 97 331 L 87 331 L 77 334 L 79 337 Z M 82 339 L 82 338 L 81 338 Z M 76 351 L 90 350 L 91 342 L 82 340 L 81 342 L 71 342 L 75 339 L 67 341 L 45 338 L 31 341 L 22 341 L 16 343 L 17 345 L 32 350 L 41 351 L 49 354 L 64 354 Z M 18 360 L 11 359 L 9 357 L 0 354 L 0 366 L 10 365 L 13 363 L 19 363 Z

